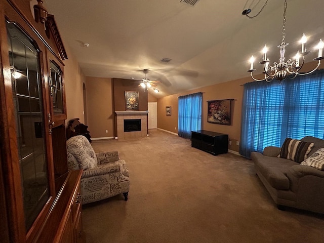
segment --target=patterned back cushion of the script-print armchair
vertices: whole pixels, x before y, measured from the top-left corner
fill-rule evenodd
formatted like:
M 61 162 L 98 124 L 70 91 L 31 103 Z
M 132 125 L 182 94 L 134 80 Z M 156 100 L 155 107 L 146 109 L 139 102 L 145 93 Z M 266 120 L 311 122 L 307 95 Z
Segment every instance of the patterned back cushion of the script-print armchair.
M 66 146 L 67 153 L 75 157 L 79 169 L 86 170 L 97 167 L 96 153 L 85 136 L 78 135 L 69 138 L 66 141 Z

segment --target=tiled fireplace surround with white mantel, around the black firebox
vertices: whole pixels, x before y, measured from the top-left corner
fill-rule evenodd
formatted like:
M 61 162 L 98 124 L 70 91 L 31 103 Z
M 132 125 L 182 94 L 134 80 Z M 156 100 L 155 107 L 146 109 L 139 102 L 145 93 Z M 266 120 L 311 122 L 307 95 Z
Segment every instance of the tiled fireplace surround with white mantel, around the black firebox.
M 147 136 L 148 111 L 115 111 L 117 115 L 118 140 L 143 138 Z M 124 119 L 141 119 L 141 131 L 124 132 Z

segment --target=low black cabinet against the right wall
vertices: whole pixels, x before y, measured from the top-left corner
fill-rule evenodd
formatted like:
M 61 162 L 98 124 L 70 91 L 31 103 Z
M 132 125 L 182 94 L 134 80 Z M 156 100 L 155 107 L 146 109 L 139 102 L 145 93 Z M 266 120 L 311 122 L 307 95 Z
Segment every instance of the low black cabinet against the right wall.
M 213 155 L 227 153 L 228 135 L 206 130 L 192 131 L 191 146 Z

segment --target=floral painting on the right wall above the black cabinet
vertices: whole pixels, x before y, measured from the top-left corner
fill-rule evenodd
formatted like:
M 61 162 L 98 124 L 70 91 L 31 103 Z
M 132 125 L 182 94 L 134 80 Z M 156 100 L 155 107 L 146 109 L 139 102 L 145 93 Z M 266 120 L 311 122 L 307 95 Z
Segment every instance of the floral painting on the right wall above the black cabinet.
M 231 100 L 209 100 L 208 117 L 209 123 L 231 125 Z

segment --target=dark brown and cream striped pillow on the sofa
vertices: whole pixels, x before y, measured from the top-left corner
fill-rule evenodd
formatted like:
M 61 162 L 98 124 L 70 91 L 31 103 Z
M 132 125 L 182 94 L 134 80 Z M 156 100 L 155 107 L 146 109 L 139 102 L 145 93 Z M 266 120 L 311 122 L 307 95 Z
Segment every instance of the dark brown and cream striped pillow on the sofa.
M 297 139 L 286 138 L 282 144 L 278 158 L 287 158 L 297 163 L 307 158 L 314 143 L 304 142 Z

